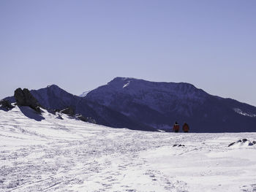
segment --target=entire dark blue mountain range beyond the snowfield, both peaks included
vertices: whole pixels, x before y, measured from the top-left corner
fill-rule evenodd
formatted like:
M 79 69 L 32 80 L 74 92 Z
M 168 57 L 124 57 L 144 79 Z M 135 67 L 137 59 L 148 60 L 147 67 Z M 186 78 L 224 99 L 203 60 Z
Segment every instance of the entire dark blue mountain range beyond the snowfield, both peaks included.
M 187 122 L 192 132 L 256 131 L 256 107 L 212 96 L 184 82 L 116 77 L 82 97 L 57 85 L 31 93 L 46 108 L 72 107 L 99 124 L 116 128 L 171 131 L 178 121 L 181 126 Z

